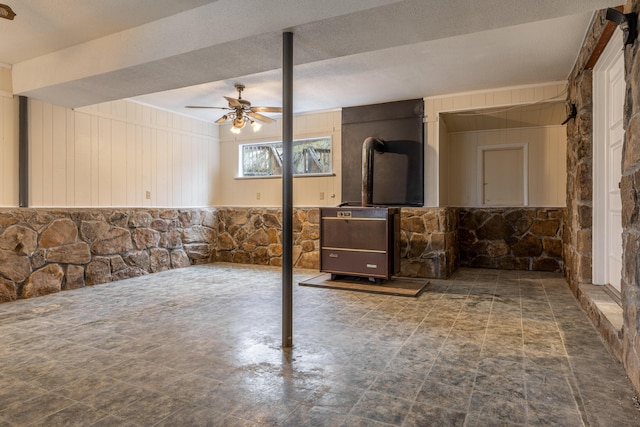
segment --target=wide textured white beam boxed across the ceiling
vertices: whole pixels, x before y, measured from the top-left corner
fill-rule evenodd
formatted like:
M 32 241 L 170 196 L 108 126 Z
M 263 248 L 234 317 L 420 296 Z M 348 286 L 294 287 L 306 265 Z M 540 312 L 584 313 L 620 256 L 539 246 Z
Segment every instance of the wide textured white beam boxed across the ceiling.
M 78 107 L 583 13 L 611 0 L 219 0 L 13 66 L 16 94 Z M 43 72 L 46 70 L 46 72 Z

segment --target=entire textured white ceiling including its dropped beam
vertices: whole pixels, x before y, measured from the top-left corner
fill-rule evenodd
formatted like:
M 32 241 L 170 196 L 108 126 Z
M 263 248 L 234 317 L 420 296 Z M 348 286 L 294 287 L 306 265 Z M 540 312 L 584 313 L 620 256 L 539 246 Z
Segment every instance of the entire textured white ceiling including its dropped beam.
M 14 91 L 70 107 L 132 98 L 215 120 L 233 84 L 281 105 L 294 33 L 294 110 L 562 81 L 610 0 L 3 0 Z M 54 7 L 55 6 L 55 7 Z M 43 72 L 47 70 L 47 72 Z

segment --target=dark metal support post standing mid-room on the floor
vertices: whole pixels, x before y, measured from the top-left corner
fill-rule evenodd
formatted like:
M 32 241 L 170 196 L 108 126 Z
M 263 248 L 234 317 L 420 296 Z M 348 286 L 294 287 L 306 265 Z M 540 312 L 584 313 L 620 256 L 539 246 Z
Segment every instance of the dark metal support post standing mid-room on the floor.
M 293 33 L 282 34 L 282 347 L 293 346 Z

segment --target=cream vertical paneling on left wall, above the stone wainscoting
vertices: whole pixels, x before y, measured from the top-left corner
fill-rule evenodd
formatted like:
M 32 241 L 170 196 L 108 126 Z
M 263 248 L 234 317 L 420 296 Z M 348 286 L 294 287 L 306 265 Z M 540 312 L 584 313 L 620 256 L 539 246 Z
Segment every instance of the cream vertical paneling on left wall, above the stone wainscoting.
M 215 125 L 133 103 L 29 100 L 30 206 L 209 206 Z

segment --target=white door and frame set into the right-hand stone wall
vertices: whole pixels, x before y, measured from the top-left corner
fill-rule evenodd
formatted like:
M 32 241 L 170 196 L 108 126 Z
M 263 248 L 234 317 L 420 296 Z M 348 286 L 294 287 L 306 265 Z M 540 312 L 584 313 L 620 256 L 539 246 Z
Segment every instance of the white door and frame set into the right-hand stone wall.
M 616 32 L 618 33 L 618 32 Z M 618 292 L 622 272 L 622 144 L 626 84 L 622 41 L 613 37 L 594 79 L 594 283 Z M 596 125 L 597 123 L 597 125 Z

